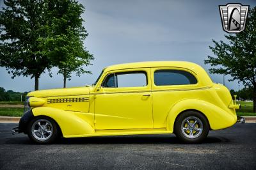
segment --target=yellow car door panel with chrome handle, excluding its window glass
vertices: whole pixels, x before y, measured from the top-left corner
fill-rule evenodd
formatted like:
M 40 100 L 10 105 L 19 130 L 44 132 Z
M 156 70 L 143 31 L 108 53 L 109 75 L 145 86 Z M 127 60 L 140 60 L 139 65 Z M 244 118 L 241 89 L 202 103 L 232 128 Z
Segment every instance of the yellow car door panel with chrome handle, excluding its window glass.
M 150 68 L 136 69 L 141 70 L 150 75 Z M 113 70 L 103 76 L 126 71 L 130 70 Z M 95 120 L 95 129 L 153 128 L 150 82 L 145 87 L 96 90 Z

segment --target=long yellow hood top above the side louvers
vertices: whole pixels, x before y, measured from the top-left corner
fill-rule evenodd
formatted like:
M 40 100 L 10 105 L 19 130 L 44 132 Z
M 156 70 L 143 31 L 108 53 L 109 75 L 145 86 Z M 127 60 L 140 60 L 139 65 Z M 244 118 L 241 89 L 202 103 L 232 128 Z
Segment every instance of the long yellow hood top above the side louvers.
M 44 89 L 38 91 L 31 91 L 28 97 L 65 97 L 75 95 L 89 95 L 89 87 L 79 88 L 61 88 L 61 89 Z

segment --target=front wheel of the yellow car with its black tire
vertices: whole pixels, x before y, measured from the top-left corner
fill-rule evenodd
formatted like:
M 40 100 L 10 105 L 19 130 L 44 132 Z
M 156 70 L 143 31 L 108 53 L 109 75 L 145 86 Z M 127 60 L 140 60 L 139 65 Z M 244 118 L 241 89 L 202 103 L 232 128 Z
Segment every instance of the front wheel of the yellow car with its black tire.
M 38 127 L 38 129 L 40 127 L 38 122 L 40 122 L 40 125 L 42 123 L 42 126 L 45 126 L 44 130 L 42 130 L 42 128 L 41 128 L 41 130 L 43 132 L 41 132 L 41 131 L 39 132 L 39 130 L 38 130 L 38 132 L 33 133 L 33 131 L 37 127 Z M 49 133 L 50 131 L 52 133 Z M 52 118 L 49 118 L 47 116 L 36 116 L 33 120 L 29 121 L 27 132 L 28 132 L 29 139 L 31 139 L 35 143 L 40 143 L 40 144 L 53 143 L 60 136 L 59 135 L 60 130 L 58 129 L 58 125 L 56 124 L 56 122 L 54 120 L 52 120 Z M 45 138 L 42 136 L 44 136 Z M 42 139 L 40 139 L 41 137 L 42 137 Z

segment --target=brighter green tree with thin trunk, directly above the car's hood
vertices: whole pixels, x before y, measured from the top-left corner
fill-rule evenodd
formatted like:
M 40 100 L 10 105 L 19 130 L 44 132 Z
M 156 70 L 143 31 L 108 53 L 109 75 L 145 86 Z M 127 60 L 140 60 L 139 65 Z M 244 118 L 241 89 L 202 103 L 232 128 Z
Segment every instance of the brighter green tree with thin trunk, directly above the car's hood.
M 58 73 L 63 75 L 63 87 L 66 87 L 67 79 L 71 79 L 71 73 L 91 73 L 84 70 L 83 66 L 90 65 L 94 59 L 84 48 L 83 40 L 88 33 L 83 27 L 81 14 L 84 6 L 76 1 L 61 0 L 47 1 L 49 13 L 49 29 L 47 38 L 43 40 L 43 49 L 52 65 L 59 68 Z

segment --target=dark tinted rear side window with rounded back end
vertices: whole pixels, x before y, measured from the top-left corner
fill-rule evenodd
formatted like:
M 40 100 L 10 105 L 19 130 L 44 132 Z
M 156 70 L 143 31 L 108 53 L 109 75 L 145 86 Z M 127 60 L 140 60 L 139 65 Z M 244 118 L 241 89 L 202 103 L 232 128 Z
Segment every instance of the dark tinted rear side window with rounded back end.
M 154 72 L 156 86 L 196 84 L 194 75 L 183 70 L 156 70 Z

